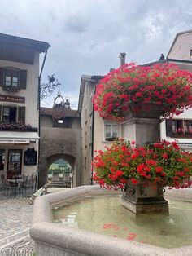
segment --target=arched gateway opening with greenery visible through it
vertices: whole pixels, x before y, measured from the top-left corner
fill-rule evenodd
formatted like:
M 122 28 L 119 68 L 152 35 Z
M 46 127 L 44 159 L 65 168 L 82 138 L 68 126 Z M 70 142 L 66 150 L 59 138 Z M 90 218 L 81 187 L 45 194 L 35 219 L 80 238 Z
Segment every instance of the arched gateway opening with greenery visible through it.
M 59 158 L 50 165 L 47 171 L 47 179 L 55 187 L 72 188 L 72 173 L 72 166 L 68 161 Z

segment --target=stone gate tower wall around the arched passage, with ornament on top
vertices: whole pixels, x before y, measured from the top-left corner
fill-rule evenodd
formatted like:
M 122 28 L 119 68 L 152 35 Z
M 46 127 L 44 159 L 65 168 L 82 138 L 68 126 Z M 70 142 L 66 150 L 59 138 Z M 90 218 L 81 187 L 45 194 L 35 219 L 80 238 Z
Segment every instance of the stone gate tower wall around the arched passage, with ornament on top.
M 46 183 L 47 171 L 56 160 L 63 159 L 72 167 L 72 187 L 81 185 L 81 118 L 62 99 L 53 108 L 41 108 L 39 187 Z

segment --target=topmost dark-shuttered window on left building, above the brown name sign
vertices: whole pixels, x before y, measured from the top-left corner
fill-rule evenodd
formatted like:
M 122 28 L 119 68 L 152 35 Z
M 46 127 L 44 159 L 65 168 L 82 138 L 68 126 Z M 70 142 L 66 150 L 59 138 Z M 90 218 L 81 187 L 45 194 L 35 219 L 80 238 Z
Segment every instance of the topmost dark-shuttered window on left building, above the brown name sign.
M 10 88 L 26 89 L 26 85 L 27 70 L 0 68 L 0 86 L 4 90 L 9 90 Z

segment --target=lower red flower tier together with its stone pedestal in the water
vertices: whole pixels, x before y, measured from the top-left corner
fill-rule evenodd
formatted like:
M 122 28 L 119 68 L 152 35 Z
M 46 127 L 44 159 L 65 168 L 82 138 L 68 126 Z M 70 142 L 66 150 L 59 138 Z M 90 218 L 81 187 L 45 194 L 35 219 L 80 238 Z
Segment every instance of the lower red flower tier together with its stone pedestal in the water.
M 94 180 L 108 189 L 126 191 L 123 201 L 135 213 L 168 211 L 163 188 L 188 188 L 191 184 L 192 155 L 176 142 L 161 141 L 135 147 L 123 139 L 93 161 Z M 124 205 L 124 204 L 123 204 Z

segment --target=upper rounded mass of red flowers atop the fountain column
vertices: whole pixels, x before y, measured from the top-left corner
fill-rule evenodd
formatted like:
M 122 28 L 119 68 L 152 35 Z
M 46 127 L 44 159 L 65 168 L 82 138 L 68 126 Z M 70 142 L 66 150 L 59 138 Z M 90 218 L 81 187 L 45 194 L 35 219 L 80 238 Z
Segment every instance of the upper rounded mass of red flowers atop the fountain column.
M 122 119 L 124 113 L 158 106 L 163 117 L 178 115 L 192 106 L 192 73 L 175 64 L 124 64 L 108 73 L 96 87 L 94 110 L 101 117 Z

